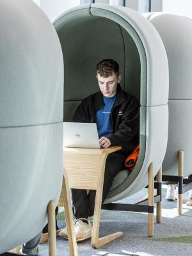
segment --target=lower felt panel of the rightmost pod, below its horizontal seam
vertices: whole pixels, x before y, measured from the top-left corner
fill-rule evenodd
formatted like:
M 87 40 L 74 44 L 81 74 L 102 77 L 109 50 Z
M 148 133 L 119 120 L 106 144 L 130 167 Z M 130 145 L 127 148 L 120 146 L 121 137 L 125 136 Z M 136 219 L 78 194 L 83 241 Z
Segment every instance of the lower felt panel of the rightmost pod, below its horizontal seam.
M 163 161 L 164 175 L 178 174 L 178 150 L 184 150 L 184 177 L 192 173 L 192 100 L 169 100 L 168 145 Z

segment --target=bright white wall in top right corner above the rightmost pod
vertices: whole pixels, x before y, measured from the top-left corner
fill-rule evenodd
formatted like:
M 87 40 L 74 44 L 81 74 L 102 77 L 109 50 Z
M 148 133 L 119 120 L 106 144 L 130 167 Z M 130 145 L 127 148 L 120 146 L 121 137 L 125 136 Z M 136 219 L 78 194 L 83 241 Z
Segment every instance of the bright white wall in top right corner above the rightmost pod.
M 191 0 L 163 0 L 163 12 L 184 15 L 192 19 Z

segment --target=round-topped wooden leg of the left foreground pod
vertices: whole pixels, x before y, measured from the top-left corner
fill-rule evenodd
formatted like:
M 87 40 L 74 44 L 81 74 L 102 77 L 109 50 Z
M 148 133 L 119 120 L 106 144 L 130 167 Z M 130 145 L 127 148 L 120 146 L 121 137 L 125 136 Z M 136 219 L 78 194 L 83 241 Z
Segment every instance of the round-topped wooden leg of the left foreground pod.
M 56 224 L 55 224 L 55 205 L 50 201 L 48 204 L 48 241 L 49 256 L 56 256 Z

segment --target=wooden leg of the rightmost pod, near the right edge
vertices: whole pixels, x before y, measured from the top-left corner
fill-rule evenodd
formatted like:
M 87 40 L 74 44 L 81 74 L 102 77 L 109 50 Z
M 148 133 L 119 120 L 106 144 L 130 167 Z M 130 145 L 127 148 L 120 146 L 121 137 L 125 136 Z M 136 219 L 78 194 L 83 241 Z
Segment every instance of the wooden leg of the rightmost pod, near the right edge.
M 178 153 L 178 201 L 177 209 L 178 214 L 182 215 L 182 185 L 183 185 L 183 165 L 184 165 L 184 152 L 182 150 Z

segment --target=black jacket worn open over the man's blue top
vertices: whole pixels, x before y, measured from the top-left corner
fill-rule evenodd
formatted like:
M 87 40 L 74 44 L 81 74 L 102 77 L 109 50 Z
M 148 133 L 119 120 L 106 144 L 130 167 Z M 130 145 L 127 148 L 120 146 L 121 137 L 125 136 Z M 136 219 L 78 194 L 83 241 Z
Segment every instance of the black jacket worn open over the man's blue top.
M 102 93 L 99 91 L 84 100 L 73 116 L 74 122 L 95 123 L 97 111 L 104 106 Z M 140 104 L 131 94 L 126 93 L 118 84 L 116 100 L 111 111 L 113 134 L 108 136 L 111 146 L 121 146 L 122 152 L 131 154 L 139 144 Z

